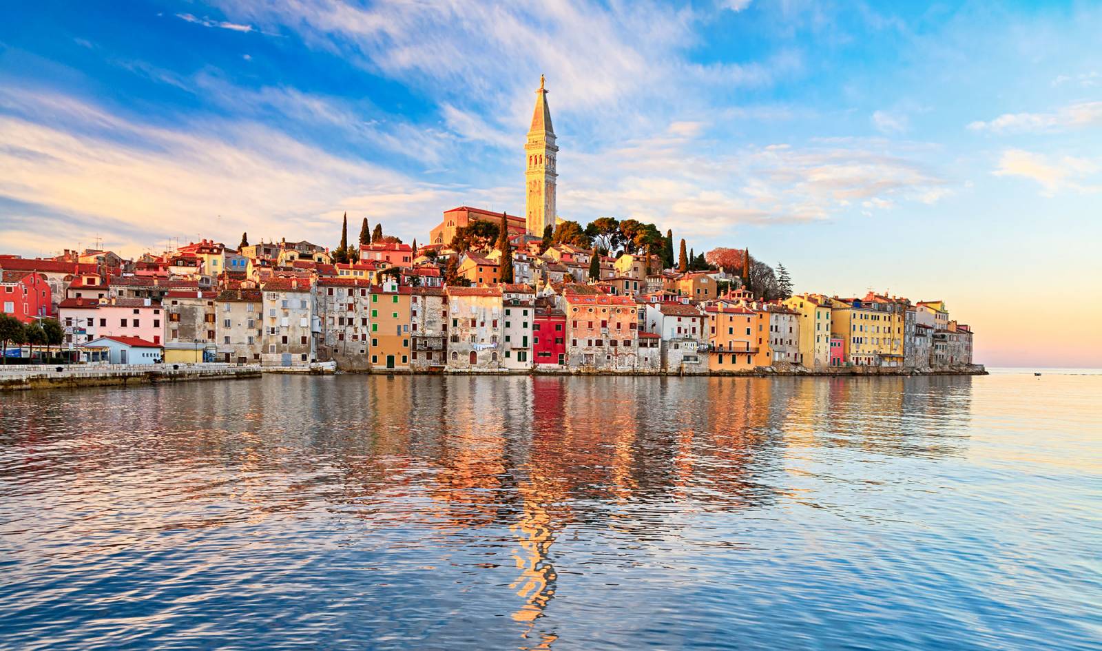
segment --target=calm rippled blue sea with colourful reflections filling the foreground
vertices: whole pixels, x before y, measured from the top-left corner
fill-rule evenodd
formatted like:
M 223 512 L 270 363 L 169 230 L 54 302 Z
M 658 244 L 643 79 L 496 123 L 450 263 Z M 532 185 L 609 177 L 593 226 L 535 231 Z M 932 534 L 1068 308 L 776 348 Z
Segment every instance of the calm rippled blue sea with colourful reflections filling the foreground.
M 1099 649 L 1102 376 L 0 395 L 0 649 Z

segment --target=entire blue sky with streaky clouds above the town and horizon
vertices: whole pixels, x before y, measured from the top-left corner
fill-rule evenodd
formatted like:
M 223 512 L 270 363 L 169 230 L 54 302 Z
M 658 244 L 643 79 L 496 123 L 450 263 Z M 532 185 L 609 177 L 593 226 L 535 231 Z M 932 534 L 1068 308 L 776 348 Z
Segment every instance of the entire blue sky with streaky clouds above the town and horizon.
M 749 247 L 797 291 L 944 300 L 990 366 L 1102 367 L 1102 4 L 9 3 L 0 252 L 409 242 L 523 213 Z

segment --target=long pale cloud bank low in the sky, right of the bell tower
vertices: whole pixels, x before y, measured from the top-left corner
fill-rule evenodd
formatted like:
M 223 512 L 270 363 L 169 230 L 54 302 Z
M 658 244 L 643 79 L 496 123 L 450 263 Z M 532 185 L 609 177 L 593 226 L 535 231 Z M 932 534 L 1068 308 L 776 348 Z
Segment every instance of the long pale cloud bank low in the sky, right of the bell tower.
M 934 203 L 952 192 L 918 159 L 892 151 L 918 154 L 921 147 L 839 139 L 714 154 L 703 153 L 703 130 L 676 122 L 662 137 L 570 154 L 559 167 L 561 216 L 584 220 L 612 214 L 722 237 L 741 225 L 871 214 L 908 202 Z

